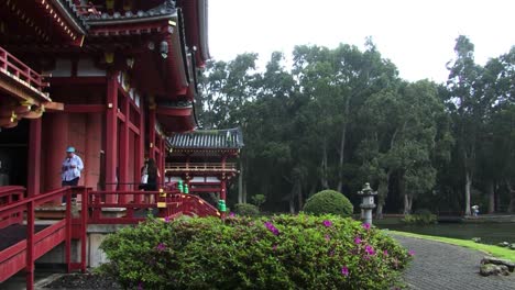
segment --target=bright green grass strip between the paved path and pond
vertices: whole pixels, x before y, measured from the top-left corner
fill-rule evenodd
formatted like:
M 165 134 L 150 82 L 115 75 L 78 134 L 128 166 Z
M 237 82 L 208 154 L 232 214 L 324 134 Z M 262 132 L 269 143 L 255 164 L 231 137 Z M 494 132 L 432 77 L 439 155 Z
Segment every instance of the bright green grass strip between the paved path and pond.
M 396 235 L 402 235 L 402 236 L 424 238 L 424 239 L 437 241 L 437 242 L 448 243 L 448 244 L 452 244 L 457 246 L 468 247 L 468 248 L 472 248 L 475 250 L 490 254 L 497 258 L 503 258 L 503 259 L 515 261 L 515 249 L 504 248 L 500 246 L 484 245 L 484 244 L 475 243 L 473 241 L 459 239 L 459 238 L 419 235 L 419 234 L 397 232 L 397 231 L 388 231 L 388 232 L 396 234 Z

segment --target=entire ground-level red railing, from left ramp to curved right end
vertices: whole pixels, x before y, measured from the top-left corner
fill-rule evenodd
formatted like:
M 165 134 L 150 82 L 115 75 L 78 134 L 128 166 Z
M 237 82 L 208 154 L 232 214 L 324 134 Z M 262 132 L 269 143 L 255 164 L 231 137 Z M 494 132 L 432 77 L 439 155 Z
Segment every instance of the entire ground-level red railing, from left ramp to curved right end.
M 26 289 L 34 288 L 34 261 L 65 242 L 65 263 L 68 271 L 86 271 L 86 241 L 88 224 L 136 224 L 146 219 L 147 209 L 157 209 L 157 216 L 175 219 L 180 215 L 221 216 L 220 212 L 194 194 L 180 193 L 175 185 L 162 191 L 91 191 L 85 187 L 66 187 L 23 199 L 24 188 L 0 187 L 0 197 L 9 202 L 0 207 L 0 230 L 26 224 L 23 241 L 0 250 L 0 282 L 18 271 L 26 271 Z M 35 208 L 77 194 L 78 205 L 67 202 L 65 217 L 35 232 Z M 10 198 L 15 197 L 15 198 Z M 15 200 L 19 199 L 19 200 Z M 76 214 L 72 207 L 76 208 Z M 80 213 L 78 213 L 80 211 Z M 72 261 L 72 238 L 80 239 L 80 260 Z

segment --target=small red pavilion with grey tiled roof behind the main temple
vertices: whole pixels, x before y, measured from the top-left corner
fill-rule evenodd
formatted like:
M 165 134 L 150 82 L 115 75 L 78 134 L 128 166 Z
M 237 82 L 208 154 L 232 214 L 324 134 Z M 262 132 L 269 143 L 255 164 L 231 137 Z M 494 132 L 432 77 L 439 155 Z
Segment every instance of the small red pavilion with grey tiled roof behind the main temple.
M 190 193 L 226 201 L 227 183 L 238 174 L 234 159 L 243 147 L 241 130 L 197 130 L 173 134 L 168 141 L 166 181 L 180 180 Z

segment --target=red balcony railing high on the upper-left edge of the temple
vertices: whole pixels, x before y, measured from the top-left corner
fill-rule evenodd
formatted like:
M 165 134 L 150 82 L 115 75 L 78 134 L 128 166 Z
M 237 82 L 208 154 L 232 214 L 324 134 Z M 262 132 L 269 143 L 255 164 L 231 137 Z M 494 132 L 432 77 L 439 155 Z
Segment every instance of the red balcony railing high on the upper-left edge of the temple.
M 48 87 L 48 82 L 44 81 L 42 75 L 31 69 L 28 65 L 23 64 L 20 59 L 8 53 L 0 47 L 0 68 L 15 76 L 20 80 L 25 81 L 29 86 L 42 91 L 43 88 Z

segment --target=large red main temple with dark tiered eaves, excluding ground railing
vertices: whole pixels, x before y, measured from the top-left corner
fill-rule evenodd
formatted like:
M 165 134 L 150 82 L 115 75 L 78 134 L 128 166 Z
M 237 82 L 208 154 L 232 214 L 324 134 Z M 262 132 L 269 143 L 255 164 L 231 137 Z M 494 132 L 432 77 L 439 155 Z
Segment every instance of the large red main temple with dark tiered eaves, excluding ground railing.
M 195 129 L 209 57 L 205 0 L 0 2 L 1 185 L 61 187 L 74 146 L 81 186 L 132 189 L 166 135 Z

